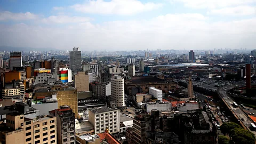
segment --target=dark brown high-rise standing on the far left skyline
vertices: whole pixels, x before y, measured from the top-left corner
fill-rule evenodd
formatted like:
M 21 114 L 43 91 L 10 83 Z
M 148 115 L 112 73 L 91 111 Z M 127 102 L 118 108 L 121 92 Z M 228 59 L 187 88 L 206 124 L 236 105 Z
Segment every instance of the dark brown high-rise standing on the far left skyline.
M 21 52 L 11 52 L 10 53 L 9 65 L 10 65 L 11 70 L 13 70 L 13 67 L 22 67 Z

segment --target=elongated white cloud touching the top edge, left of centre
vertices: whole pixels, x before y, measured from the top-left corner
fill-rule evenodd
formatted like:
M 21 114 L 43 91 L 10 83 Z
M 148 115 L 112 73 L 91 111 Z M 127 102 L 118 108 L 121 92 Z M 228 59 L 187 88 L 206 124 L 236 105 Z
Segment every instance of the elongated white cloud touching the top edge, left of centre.
M 71 6 L 71 8 L 74 10 L 84 13 L 120 15 L 129 15 L 144 11 L 151 11 L 158 9 L 159 7 L 162 7 L 162 4 L 155 4 L 150 2 L 143 4 L 138 0 L 111 0 L 110 2 L 97 0 Z

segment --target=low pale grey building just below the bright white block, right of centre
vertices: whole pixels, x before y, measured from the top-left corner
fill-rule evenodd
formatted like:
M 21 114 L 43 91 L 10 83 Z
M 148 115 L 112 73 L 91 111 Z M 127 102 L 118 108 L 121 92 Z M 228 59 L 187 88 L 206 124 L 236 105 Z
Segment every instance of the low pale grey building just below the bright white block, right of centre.
M 147 113 L 150 113 L 151 110 L 157 109 L 159 111 L 171 111 L 172 103 L 170 102 L 148 102 L 146 104 Z

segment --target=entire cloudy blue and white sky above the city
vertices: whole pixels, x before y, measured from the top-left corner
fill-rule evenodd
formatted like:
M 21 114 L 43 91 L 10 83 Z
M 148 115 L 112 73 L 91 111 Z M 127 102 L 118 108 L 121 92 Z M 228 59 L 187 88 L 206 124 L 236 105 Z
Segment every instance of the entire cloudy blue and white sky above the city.
M 254 49 L 256 0 L 1 0 L 0 46 Z

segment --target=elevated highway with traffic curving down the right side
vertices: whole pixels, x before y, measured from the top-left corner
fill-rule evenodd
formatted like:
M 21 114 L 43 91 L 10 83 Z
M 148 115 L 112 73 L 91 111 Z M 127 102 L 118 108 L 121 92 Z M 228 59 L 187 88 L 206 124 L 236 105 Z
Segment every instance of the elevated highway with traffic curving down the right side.
M 238 86 L 242 86 L 244 84 L 238 84 Z M 244 127 L 244 129 L 247 129 L 249 131 L 251 131 L 250 127 L 251 127 L 251 123 L 253 123 L 253 121 L 251 121 L 250 118 L 248 118 L 248 116 L 244 113 L 244 111 L 241 108 L 235 108 L 233 107 L 233 102 L 234 100 L 230 97 L 228 97 L 227 95 L 227 91 L 230 89 L 233 89 L 236 85 L 230 85 L 230 86 L 226 86 L 226 87 L 220 87 L 218 89 L 218 93 L 219 93 L 219 97 L 220 99 L 223 100 L 223 102 L 228 106 L 228 108 L 233 112 L 234 116 L 240 120 L 240 123 L 242 124 L 242 126 Z M 242 121 L 242 118 L 244 119 Z M 251 131 L 255 137 L 256 137 L 256 132 L 255 131 Z

